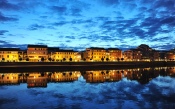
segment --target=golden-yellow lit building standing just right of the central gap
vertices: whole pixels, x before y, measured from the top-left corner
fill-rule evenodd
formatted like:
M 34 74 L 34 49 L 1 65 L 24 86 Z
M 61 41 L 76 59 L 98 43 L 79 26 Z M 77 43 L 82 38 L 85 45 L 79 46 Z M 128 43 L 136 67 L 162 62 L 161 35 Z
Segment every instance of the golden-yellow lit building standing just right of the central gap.
M 105 61 L 106 60 L 106 50 L 104 48 L 91 47 L 86 48 L 85 51 L 86 61 Z

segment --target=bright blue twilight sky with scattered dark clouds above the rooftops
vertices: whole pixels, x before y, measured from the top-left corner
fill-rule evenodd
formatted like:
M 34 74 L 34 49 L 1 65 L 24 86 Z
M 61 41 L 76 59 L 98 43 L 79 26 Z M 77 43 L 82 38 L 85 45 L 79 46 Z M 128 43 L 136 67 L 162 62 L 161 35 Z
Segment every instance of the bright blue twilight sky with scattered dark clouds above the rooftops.
M 0 47 L 175 48 L 175 0 L 0 0 Z

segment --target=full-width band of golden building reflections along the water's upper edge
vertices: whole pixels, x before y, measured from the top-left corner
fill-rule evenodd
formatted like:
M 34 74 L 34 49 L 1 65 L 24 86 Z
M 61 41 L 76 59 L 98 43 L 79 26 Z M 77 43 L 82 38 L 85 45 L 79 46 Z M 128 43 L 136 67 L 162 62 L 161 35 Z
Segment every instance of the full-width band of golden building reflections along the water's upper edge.
M 117 82 L 122 78 L 147 84 L 158 76 L 175 77 L 175 67 L 137 68 L 121 70 L 0 73 L 0 85 L 27 83 L 28 88 L 47 87 L 48 82 L 73 82 L 80 76 L 87 83 Z

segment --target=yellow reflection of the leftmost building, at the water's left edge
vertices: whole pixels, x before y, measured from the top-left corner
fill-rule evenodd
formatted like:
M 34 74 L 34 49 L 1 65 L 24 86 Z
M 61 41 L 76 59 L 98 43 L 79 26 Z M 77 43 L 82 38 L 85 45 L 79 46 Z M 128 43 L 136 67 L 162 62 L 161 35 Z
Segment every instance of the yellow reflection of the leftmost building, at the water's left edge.
M 19 84 L 18 73 L 1 73 L 0 85 Z

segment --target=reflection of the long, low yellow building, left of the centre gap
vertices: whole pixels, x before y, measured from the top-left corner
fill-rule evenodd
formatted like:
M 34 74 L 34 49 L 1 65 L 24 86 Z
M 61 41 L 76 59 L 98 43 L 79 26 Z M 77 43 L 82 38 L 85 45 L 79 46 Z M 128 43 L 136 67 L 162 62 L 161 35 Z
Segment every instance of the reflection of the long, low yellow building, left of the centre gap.
M 51 75 L 51 82 L 68 82 L 68 81 L 76 81 L 81 74 L 78 71 L 72 72 L 54 72 Z

